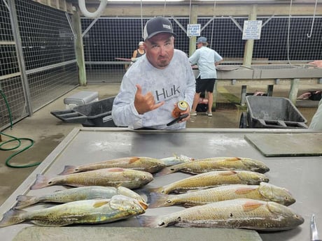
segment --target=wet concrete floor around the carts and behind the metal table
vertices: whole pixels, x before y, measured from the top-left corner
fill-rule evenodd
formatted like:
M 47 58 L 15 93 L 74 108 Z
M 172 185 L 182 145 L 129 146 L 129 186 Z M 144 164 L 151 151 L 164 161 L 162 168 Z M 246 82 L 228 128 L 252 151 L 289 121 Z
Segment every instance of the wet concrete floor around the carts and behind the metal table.
M 249 87 L 248 92 L 265 91 L 266 87 Z M 64 98 L 71 96 L 81 90 L 95 91 L 99 93 L 99 99 L 115 96 L 118 93 L 118 84 L 106 85 L 87 85 L 87 87 L 77 87 L 68 94 L 58 98 L 56 101 L 38 110 L 31 117 L 27 117 L 13 126 L 13 129 L 6 129 L 3 133 L 16 138 L 31 138 L 34 140 L 34 145 L 18 156 L 15 156 L 11 165 L 22 166 L 34 162 L 40 162 L 52 152 L 57 145 L 76 127 L 81 127 L 81 124 L 73 124 L 62 122 L 50 114 L 52 110 L 65 110 Z M 263 90 L 264 89 L 264 90 Z M 299 90 L 299 95 L 312 89 L 321 89 L 321 85 L 302 86 Z M 230 103 L 225 98 L 223 92 L 234 94 L 240 98 L 240 87 L 221 87 L 218 89 L 218 105 L 216 112 L 213 112 L 213 117 L 207 117 L 204 114 L 199 114 L 197 117 L 192 117 L 187 124 L 187 128 L 239 128 L 239 119 L 242 109 L 238 104 Z M 288 96 L 288 87 L 274 87 L 273 96 Z M 311 121 L 314 112 L 316 111 L 318 101 L 299 101 L 298 104 L 306 107 L 297 107 L 297 109 L 308 120 Z M 311 106 L 311 107 L 307 107 Z M 8 137 L 1 136 L 2 141 L 8 140 Z M 22 149 L 28 143 L 25 142 L 19 149 Z M 6 148 L 16 145 L 11 143 L 6 145 Z M 0 205 L 8 196 L 22 183 L 23 180 L 36 168 L 9 168 L 5 161 L 14 151 L 0 151 Z

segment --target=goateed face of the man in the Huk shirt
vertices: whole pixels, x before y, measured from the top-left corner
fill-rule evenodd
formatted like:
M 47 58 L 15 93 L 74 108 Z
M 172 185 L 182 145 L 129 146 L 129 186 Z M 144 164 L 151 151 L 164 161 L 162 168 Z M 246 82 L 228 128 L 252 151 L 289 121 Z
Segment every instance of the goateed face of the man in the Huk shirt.
M 161 33 L 144 42 L 146 57 L 155 68 L 165 68 L 174 56 L 174 37 Z

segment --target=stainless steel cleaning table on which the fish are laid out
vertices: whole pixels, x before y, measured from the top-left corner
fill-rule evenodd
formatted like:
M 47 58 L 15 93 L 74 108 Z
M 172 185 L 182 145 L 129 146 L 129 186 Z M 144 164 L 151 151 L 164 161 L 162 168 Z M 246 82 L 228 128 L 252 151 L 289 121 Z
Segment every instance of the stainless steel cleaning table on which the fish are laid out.
M 261 135 L 265 140 L 265 137 L 272 133 L 274 135 L 279 133 L 281 137 L 288 138 L 311 133 L 311 138 L 308 138 L 305 144 L 311 143 L 312 146 L 317 145 L 322 148 L 321 140 L 314 137 L 315 135 L 321 135 L 321 133 L 309 132 L 303 129 L 186 129 L 183 131 L 132 131 L 120 128 L 85 127 L 74 129 L 1 205 L 0 215 L 2 216 L 4 212 L 15 205 L 15 199 L 20 194 L 34 196 L 64 189 L 65 187 L 57 185 L 44 189 L 29 190 L 38 173 L 53 177 L 61 173 L 65 165 L 80 165 L 125 156 L 150 156 L 157 159 L 172 156 L 173 154 L 183 154 L 195 159 L 214 156 L 243 156 L 258 159 L 269 166 L 270 170 L 266 173 L 267 177 L 269 177 L 269 182 L 279 187 L 286 187 L 293 194 L 296 198 L 296 203 L 290 207 L 305 219 L 304 224 L 290 231 L 260 232 L 260 238 L 274 241 L 309 240 L 311 214 L 315 214 L 317 228 L 322 235 L 322 156 L 318 156 L 318 153 L 314 156 L 296 156 L 293 153 L 292 156 L 265 157 L 245 138 L 247 135 L 256 134 Z M 297 145 L 293 143 L 292 147 L 286 145 L 287 143 L 284 144 L 287 148 L 300 149 L 304 143 L 302 139 L 298 138 L 298 140 Z M 281 143 L 281 145 L 284 144 Z M 148 187 L 160 187 L 188 176 L 185 173 L 174 173 L 155 177 L 155 180 L 148 184 Z M 28 208 L 32 210 L 42 206 L 48 207 L 48 204 Z M 167 214 L 181 209 L 183 207 L 160 207 L 148 209 L 146 214 Z M 1 240 L 13 240 L 22 231 L 22 228 L 32 226 L 34 225 L 23 223 L 0 228 Z M 90 230 L 92 226 L 85 225 L 82 227 L 84 230 L 86 228 Z M 137 219 L 131 218 L 113 224 L 100 224 L 96 227 L 135 228 L 139 227 L 139 223 Z M 59 228 L 55 230 L 59 233 Z M 209 235 L 209 233 L 204 232 L 204 235 Z M 183 232 L 182 240 L 190 240 L 191 237 L 188 234 L 186 236 L 185 232 Z M 200 240 L 207 240 L 207 238 L 200 237 Z

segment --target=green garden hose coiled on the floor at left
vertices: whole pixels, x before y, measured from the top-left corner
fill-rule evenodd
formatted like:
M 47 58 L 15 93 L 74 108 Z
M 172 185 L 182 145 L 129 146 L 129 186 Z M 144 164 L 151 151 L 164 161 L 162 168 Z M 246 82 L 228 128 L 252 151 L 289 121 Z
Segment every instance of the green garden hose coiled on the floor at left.
M 1 96 L 3 97 L 3 100 L 6 102 L 6 107 L 8 109 L 8 112 L 9 112 L 9 119 L 10 119 L 10 127 L 11 129 L 13 129 L 13 121 L 12 121 L 12 117 L 11 117 L 11 111 L 10 111 L 10 107 L 9 107 L 9 104 L 8 104 L 8 101 L 6 99 L 6 96 L 3 94 L 2 90 L 0 89 L 0 94 Z M 10 151 L 10 150 L 13 150 L 13 149 L 17 149 L 20 147 L 21 145 L 21 140 L 28 140 L 30 142 L 29 145 L 27 145 L 27 147 L 21 149 L 20 151 L 18 152 L 15 152 L 13 154 L 11 154 L 7 159 L 6 159 L 6 166 L 10 167 L 10 168 L 29 168 L 31 166 L 37 166 L 40 164 L 40 162 L 36 162 L 36 163 L 31 163 L 31 164 L 27 164 L 27 165 L 22 165 L 22 166 L 13 166 L 11 165 L 9 162 L 10 160 L 13 158 L 13 156 L 16 156 L 18 154 L 20 154 L 21 152 L 24 152 L 25 150 L 29 149 L 30 147 L 32 147 L 34 145 L 34 140 L 30 139 L 30 138 L 15 138 L 14 136 L 9 136 L 3 132 L 0 132 L 0 135 L 3 135 L 3 136 L 8 136 L 9 138 L 11 138 L 11 140 L 6 140 L 4 143 L 1 143 L 0 145 L 0 150 L 1 151 Z M 16 141 L 18 144 L 15 146 L 15 147 L 11 147 L 11 148 L 3 148 L 3 145 L 6 145 L 8 143 L 12 143 L 13 141 Z

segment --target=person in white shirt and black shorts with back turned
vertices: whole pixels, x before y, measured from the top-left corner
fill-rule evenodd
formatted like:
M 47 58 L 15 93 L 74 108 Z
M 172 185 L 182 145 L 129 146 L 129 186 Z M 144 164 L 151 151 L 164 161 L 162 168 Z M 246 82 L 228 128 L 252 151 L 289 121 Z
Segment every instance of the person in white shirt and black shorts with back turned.
M 197 115 L 196 108 L 200 99 L 200 94 L 207 92 L 208 110 L 206 114 L 212 117 L 212 105 L 214 102 L 214 85 L 217 78 L 216 66 L 223 61 L 223 57 L 215 50 L 208 48 L 207 38 L 197 39 L 197 50 L 189 57 L 191 64 L 197 64 L 199 75 L 196 80 L 196 92 L 193 99 L 193 108 L 190 115 Z

